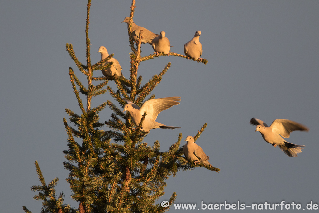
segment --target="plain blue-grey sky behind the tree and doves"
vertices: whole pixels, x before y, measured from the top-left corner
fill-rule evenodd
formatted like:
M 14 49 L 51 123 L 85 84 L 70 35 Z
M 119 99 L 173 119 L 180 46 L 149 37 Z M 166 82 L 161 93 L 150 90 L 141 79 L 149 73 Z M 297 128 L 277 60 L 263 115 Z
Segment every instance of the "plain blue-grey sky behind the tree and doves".
M 34 161 L 47 182 L 59 178 L 57 193 L 73 207 L 68 171 L 62 151 L 67 149 L 63 117 L 65 108 L 80 109 L 72 91 L 68 69 L 80 73 L 65 50 L 73 44 L 85 64 L 86 1 L 4 1 L 0 7 L 1 48 L 1 212 L 22 212 L 26 206 L 40 212 L 41 202 L 30 190 L 39 185 Z M 127 25 L 131 1 L 92 1 L 89 38 L 92 63 L 105 46 L 129 76 Z M 208 64 L 162 56 L 142 62 L 143 83 L 172 63 L 152 94 L 156 98 L 181 96 L 181 104 L 161 112 L 157 121 L 177 130 L 151 130 L 145 141 L 155 140 L 166 151 L 180 132 L 184 140 L 208 123 L 197 140 L 210 163 L 220 172 L 196 168 L 180 171 L 167 180 L 159 202 L 177 193 L 175 203 L 319 203 L 319 1 L 137 0 L 134 21 L 154 33 L 166 32 L 173 52 L 197 30 L 202 32 L 202 57 Z M 153 53 L 142 45 L 142 55 Z M 95 71 L 94 76 L 101 76 Z M 115 83 L 108 85 L 115 88 Z M 109 94 L 93 98 L 93 106 L 110 100 Z M 100 113 L 110 119 L 111 110 Z M 298 157 L 288 157 L 266 143 L 252 117 L 268 125 L 286 118 L 310 128 L 293 132 L 288 142 L 306 145 Z M 70 122 L 69 122 L 70 123 Z M 103 128 L 103 129 L 106 129 Z M 211 212 L 216 210 L 197 210 Z M 227 210 L 218 210 L 226 212 Z M 231 210 L 241 211 L 241 210 Z M 267 212 L 268 210 L 263 210 Z M 293 211 L 292 209 L 283 212 Z M 294 210 L 296 211 L 296 210 Z M 194 212 L 174 210 L 169 212 Z M 245 212 L 253 212 L 246 208 Z M 271 211 L 273 212 L 273 211 Z

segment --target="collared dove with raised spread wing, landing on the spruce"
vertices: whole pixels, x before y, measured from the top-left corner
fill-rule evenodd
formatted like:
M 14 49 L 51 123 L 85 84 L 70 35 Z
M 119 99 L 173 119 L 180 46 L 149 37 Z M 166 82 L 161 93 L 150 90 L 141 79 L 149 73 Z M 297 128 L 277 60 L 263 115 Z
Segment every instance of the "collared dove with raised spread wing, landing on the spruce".
M 146 111 L 147 115 L 145 117 L 145 120 L 143 121 L 142 130 L 149 131 L 151 129 L 178 129 L 181 127 L 178 126 L 166 126 L 164 124 L 160 124 L 159 122 L 156 122 L 156 118 L 158 114 L 163 111 L 167 110 L 171 106 L 179 104 L 181 99 L 180 97 L 167 97 L 167 98 L 156 98 L 149 101 L 145 101 L 141 108 L 139 108 L 136 104 L 133 102 L 130 102 L 126 100 L 127 104 L 124 106 L 124 111 L 128 111 L 130 113 L 130 116 L 136 126 L 139 125 L 141 122 L 142 116 L 144 115 L 144 112 Z

